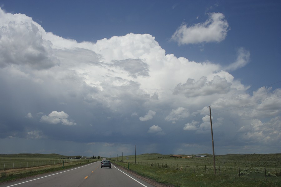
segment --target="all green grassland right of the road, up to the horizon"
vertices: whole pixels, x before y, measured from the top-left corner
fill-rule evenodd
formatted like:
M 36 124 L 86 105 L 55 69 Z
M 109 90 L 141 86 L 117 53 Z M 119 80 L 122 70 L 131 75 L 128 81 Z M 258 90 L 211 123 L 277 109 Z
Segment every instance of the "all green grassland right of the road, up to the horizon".
M 111 160 L 125 168 L 129 166 L 129 170 L 139 175 L 176 187 L 281 186 L 281 154 L 219 155 L 215 157 L 216 175 L 213 156 L 201 155 L 207 157 L 182 155 L 185 158 L 171 158 L 170 155 L 143 154 Z

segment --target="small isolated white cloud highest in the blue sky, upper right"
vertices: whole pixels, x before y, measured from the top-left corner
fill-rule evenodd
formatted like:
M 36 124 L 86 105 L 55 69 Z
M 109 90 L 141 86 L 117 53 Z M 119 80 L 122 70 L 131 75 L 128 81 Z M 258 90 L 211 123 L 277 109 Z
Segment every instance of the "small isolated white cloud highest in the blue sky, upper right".
M 202 42 L 220 42 L 224 40 L 229 25 L 222 13 L 210 13 L 204 23 L 193 26 L 181 25 L 172 36 L 178 45 L 197 44 Z

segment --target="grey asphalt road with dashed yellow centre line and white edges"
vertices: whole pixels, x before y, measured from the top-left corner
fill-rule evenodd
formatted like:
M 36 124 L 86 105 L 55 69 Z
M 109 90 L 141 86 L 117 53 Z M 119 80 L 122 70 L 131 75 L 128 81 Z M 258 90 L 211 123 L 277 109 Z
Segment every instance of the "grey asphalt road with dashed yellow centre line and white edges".
M 101 168 L 101 162 L 94 162 L 69 170 L 40 175 L 25 180 L 6 183 L 0 187 L 153 187 L 149 183 L 120 170 L 114 164 L 112 168 Z

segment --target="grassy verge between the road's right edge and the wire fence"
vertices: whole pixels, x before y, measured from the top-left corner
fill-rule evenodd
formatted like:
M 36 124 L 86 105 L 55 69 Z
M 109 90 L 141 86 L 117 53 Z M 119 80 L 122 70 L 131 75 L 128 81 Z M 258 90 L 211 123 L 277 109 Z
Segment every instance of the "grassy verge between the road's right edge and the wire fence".
M 127 163 L 116 161 L 115 164 L 128 168 Z M 281 186 L 279 177 L 252 178 L 246 175 L 214 175 L 213 173 L 193 173 L 184 170 L 171 170 L 170 168 L 154 167 L 151 165 L 129 164 L 129 170 L 138 175 L 155 180 L 156 182 L 173 185 L 175 187 L 187 186 L 225 186 L 225 187 L 274 187 Z

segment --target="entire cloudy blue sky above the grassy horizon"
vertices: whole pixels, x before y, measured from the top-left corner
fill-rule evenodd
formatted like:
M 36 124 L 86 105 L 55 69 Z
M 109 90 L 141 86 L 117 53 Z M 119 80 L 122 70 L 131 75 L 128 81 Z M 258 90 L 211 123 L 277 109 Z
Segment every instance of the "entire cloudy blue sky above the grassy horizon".
M 280 153 L 280 10 L 1 0 L 0 154 Z

